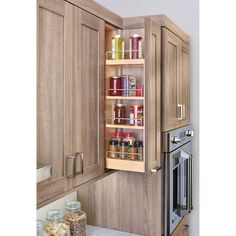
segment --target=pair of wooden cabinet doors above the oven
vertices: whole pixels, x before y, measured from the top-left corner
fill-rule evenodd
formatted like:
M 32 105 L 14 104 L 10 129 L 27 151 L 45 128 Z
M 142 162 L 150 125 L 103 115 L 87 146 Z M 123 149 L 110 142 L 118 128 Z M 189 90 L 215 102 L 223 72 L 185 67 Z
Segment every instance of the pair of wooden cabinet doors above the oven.
M 189 45 L 162 28 L 162 131 L 190 123 Z

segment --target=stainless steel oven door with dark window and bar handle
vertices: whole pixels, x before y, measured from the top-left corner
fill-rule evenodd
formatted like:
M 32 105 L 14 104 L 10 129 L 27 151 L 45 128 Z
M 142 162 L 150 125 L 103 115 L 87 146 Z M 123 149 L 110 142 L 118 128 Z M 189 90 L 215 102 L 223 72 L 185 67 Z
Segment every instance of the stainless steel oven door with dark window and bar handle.
M 192 210 L 191 142 L 166 156 L 167 224 L 170 235 L 183 216 Z

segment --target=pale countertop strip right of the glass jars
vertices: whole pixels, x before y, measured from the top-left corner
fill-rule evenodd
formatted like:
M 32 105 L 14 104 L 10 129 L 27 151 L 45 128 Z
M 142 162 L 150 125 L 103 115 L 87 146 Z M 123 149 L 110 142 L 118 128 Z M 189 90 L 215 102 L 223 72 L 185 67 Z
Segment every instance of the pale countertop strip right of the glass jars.
M 106 229 L 93 225 L 87 225 L 88 236 L 142 236 L 140 234 L 131 234 L 113 229 Z

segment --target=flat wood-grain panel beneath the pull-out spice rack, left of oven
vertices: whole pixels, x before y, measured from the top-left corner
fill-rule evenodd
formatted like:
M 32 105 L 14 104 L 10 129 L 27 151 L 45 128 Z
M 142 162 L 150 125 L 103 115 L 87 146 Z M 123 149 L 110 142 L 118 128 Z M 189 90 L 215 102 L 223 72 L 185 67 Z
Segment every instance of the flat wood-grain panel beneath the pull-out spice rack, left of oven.
M 145 236 L 161 236 L 161 172 L 117 171 L 78 187 L 88 224 Z

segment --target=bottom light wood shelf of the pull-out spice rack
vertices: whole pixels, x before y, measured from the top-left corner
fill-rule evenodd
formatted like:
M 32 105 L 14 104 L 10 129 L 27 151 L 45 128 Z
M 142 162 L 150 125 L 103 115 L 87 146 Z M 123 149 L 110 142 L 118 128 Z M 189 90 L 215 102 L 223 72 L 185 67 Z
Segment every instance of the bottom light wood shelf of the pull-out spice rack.
M 145 164 L 143 161 L 130 161 L 106 158 L 106 168 L 114 170 L 126 170 L 134 172 L 145 172 Z

